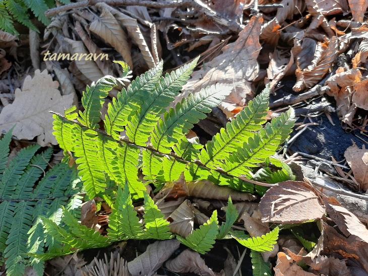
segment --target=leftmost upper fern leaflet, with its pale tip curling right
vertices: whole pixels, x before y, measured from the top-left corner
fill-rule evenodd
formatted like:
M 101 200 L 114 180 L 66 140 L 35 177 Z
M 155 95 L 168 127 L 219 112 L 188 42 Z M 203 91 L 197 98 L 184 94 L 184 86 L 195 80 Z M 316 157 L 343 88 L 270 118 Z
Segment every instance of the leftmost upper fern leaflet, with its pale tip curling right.
M 99 79 L 96 83 L 92 83 L 91 87 L 87 86 L 83 92 L 82 105 L 84 112 L 79 112 L 78 120 L 85 126 L 96 129 L 99 127 L 98 122 L 101 120 L 101 108 L 104 98 L 108 92 L 116 86 L 116 79 L 111 76 L 106 76 Z

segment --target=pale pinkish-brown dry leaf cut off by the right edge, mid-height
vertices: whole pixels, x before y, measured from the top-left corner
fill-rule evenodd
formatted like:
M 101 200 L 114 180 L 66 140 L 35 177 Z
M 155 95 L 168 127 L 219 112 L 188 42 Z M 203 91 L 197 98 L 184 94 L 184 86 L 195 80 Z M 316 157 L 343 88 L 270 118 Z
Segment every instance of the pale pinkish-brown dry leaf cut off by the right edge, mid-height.
M 368 190 L 368 149 L 364 145 L 362 149 L 354 145 L 346 149 L 344 157 L 360 184 L 360 190 Z

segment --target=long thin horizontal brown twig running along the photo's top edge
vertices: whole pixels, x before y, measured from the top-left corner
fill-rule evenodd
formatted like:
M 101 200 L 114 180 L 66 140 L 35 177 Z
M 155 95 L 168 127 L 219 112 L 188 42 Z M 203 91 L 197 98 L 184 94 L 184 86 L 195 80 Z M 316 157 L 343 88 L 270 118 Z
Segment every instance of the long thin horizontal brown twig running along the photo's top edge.
M 57 8 L 48 9 L 45 12 L 46 17 L 54 16 L 58 13 L 63 13 L 70 11 L 76 8 L 82 8 L 86 6 L 94 6 L 97 3 L 104 2 L 109 6 L 143 6 L 143 7 L 150 7 L 150 8 L 176 8 L 176 7 L 183 7 L 189 6 L 192 4 L 192 0 L 172 0 L 172 1 L 161 1 L 161 2 L 154 2 L 154 1 L 147 1 L 147 0 L 89 0 L 89 1 L 81 1 L 77 3 L 71 3 L 65 6 L 60 6 Z

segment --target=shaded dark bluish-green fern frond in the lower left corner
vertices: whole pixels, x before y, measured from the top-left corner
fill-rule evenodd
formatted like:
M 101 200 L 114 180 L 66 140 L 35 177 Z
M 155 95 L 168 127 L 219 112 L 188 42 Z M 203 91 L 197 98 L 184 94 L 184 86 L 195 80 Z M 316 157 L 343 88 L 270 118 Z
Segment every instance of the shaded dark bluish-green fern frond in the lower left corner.
M 74 200 L 69 208 L 80 206 L 81 201 L 74 198 L 79 180 L 66 164 L 55 166 L 39 180 L 52 155 L 51 149 L 36 154 L 39 146 L 22 149 L 6 167 L 11 137 L 12 129 L 0 141 L 0 259 L 6 258 L 8 275 L 23 275 L 27 262 L 42 274 L 43 262 L 25 254 L 45 250 L 40 216 L 57 222 L 62 205 Z

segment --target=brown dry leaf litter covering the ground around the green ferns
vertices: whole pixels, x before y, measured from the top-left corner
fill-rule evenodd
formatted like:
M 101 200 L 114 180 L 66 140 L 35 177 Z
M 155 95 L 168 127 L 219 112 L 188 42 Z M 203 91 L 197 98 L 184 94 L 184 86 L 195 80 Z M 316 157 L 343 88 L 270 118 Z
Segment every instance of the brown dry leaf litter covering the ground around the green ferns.
M 140 5 L 138 2 L 136 4 Z M 311 97 L 303 99 L 312 104 L 318 103 L 316 96 L 332 97 L 342 127 L 347 131 L 360 131 L 358 135 L 367 141 L 366 1 L 282 0 L 276 3 L 239 0 L 229 5 L 228 1 L 221 0 L 194 1 L 186 5 L 178 2 L 175 7 L 163 5 L 154 8 L 154 4 L 148 4 L 147 7 L 114 7 L 98 3 L 95 6 L 80 6 L 72 9 L 71 13 L 55 14 L 45 29 L 44 41 L 40 42 L 41 49 L 71 55 L 84 53 L 85 56 L 108 52 L 109 59 L 105 60 L 86 57 L 43 60 L 46 51 L 41 53 L 41 58 L 36 54 L 40 48 L 34 47 L 37 42 L 35 33 L 28 34 L 33 54 L 27 57 L 22 53 L 24 38 L 17 40 L 16 36 L 0 31 L 2 132 L 17 123 L 13 134 L 18 140 L 35 139 L 41 146 L 56 145 L 51 134 L 52 120 L 48 110 L 61 113 L 64 108 L 77 103 L 77 96 L 81 95 L 86 85 L 106 74 L 120 76 L 120 68 L 112 60 L 128 62 L 137 76 L 154 67 L 161 58 L 165 59 L 167 70 L 170 71 L 200 54 L 200 68 L 193 73 L 175 103 L 189 92 L 195 93 L 210 84 L 225 83 L 231 87 L 230 95 L 219 106 L 225 116 L 221 117 L 213 110 L 209 118 L 198 124 L 199 128 L 195 131 L 200 133 L 202 144 L 206 140 L 203 131 L 210 134 L 218 131 L 210 125 L 223 126 L 247 106 L 265 85 L 270 85 L 278 94 L 286 80 L 293 81 L 292 91 L 288 93 L 295 96 L 310 93 Z M 166 45 L 161 45 L 163 38 L 166 38 Z M 27 58 L 33 64 L 30 74 L 18 62 L 18 59 Z M 48 73 L 36 71 L 37 66 L 47 68 Z M 15 78 L 15 71 L 22 72 L 24 80 Z M 113 96 L 111 93 L 110 97 Z M 286 101 L 283 105 L 289 104 Z M 296 107 L 300 106 L 299 102 Z M 325 112 L 323 109 L 321 111 Z M 269 116 L 277 116 L 277 113 L 272 110 Z M 367 150 L 364 146 L 362 149 L 356 145 L 348 146 L 345 158 L 351 171 L 344 169 L 343 179 L 339 180 L 342 183 L 357 183 L 356 191 L 366 192 Z M 251 237 L 266 235 L 275 223 L 285 228 L 285 232 L 280 232 L 279 243 L 271 253 L 251 253 L 258 256 L 252 258 L 258 267 L 261 267 L 262 256 L 263 267 L 270 259 L 276 275 L 368 273 L 367 222 L 359 220 L 354 211 L 346 206 L 346 202 L 339 202 L 333 197 L 326 198 L 323 189 L 321 192 L 320 188 L 302 177 L 298 181 L 278 183 L 268 189 L 261 200 L 249 193 L 211 185 L 209 181 L 177 181 L 165 188 L 156 194 L 155 201 L 165 219 L 171 222 L 173 233 L 188 236 L 196 229 L 198 221 L 208 219 L 207 215 L 211 211 L 222 209 L 225 212 L 224 202 L 231 195 L 239 214 L 236 225 L 246 229 Z M 337 191 L 341 192 L 339 189 Z M 349 196 L 354 198 L 354 192 L 350 192 Z M 209 204 L 204 207 L 196 202 L 196 198 L 204 198 Z M 84 223 L 90 227 L 96 224 L 101 227 L 98 218 L 108 217 L 108 206 L 101 208 L 97 214 L 96 204 L 91 206 L 84 211 L 90 214 Z M 326 221 L 326 216 L 330 221 Z M 305 234 L 312 229 L 311 221 L 319 226 L 317 237 Z M 106 225 L 100 228 L 101 233 L 104 227 Z M 291 231 L 297 238 L 290 238 L 286 234 L 290 233 L 287 232 L 289 227 L 301 227 L 305 233 L 300 236 Z M 316 245 L 308 248 L 306 244 L 312 244 L 312 240 Z M 124 273 L 155 274 L 158 269 L 163 273 L 163 268 L 177 273 L 190 271 L 201 275 L 224 273 L 222 270 L 214 272 L 207 266 L 203 256 L 194 251 L 184 250 L 173 256 L 178 248 L 175 242 L 155 242 L 143 254 L 131 258 L 125 266 L 121 259 Z M 170 250 L 166 248 L 166 243 Z M 232 253 L 236 256 L 235 252 Z M 81 254 L 66 256 L 50 261 L 49 266 L 64 269 L 65 274 L 83 274 L 85 272 L 80 269 L 85 264 L 83 258 Z M 120 260 L 120 257 L 117 259 Z M 241 260 L 240 256 L 238 259 Z M 98 262 L 102 269 L 102 263 L 112 264 L 113 258 L 106 256 L 104 261 L 94 261 Z M 232 269 L 235 270 L 234 267 Z M 29 275 L 31 273 L 29 271 Z

